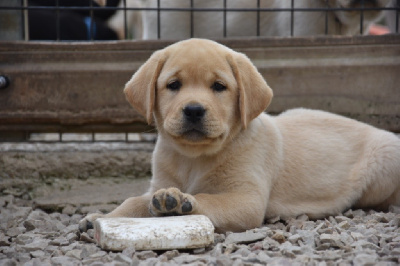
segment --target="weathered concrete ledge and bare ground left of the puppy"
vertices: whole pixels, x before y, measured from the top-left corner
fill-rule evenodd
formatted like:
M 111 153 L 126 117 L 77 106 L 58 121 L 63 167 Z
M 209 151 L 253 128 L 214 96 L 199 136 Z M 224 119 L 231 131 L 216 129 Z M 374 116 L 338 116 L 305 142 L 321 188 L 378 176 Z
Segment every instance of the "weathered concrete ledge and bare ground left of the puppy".
M 0 144 L 0 192 L 46 211 L 110 211 L 149 186 L 149 143 Z

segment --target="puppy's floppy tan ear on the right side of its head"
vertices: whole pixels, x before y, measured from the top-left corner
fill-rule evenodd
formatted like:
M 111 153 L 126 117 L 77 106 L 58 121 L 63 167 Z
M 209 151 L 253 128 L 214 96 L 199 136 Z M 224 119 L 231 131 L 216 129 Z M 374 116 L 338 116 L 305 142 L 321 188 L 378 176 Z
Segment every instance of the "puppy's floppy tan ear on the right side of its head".
M 273 93 L 246 55 L 233 52 L 228 55 L 228 62 L 239 87 L 240 116 L 246 128 L 251 120 L 268 107 Z

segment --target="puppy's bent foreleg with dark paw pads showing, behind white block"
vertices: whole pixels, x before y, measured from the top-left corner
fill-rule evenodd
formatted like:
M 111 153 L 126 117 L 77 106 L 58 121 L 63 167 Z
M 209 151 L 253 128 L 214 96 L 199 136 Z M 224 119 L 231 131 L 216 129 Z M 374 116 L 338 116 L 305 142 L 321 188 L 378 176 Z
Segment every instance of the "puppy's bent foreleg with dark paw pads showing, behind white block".
M 258 193 L 190 195 L 168 188 L 154 193 L 149 210 L 154 216 L 202 214 L 210 218 L 217 232 L 245 231 L 261 226 L 266 201 Z

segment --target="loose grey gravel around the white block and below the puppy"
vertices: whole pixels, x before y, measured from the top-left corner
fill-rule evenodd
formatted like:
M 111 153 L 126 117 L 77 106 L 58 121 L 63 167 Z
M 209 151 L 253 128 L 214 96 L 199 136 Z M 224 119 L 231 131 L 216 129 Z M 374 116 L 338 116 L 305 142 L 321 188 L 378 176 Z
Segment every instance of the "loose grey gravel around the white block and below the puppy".
M 82 214 L 46 213 L 32 201 L 0 197 L 0 265 L 399 265 L 400 208 L 349 210 L 310 221 L 277 217 L 245 233 L 216 234 L 196 250 L 101 250 Z

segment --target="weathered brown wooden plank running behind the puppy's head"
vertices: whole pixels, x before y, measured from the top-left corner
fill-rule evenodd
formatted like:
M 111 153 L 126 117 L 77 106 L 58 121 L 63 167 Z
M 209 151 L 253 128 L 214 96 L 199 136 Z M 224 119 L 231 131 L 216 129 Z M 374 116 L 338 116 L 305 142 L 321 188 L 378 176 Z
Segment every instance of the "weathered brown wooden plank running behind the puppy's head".
M 400 132 L 400 36 L 224 39 L 274 90 L 270 113 L 327 110 Z M 1 42 L 0 131 L 147 130 L 124 84 L 173 41 Z M 24 130 L 26 129 L 26 130 Z

